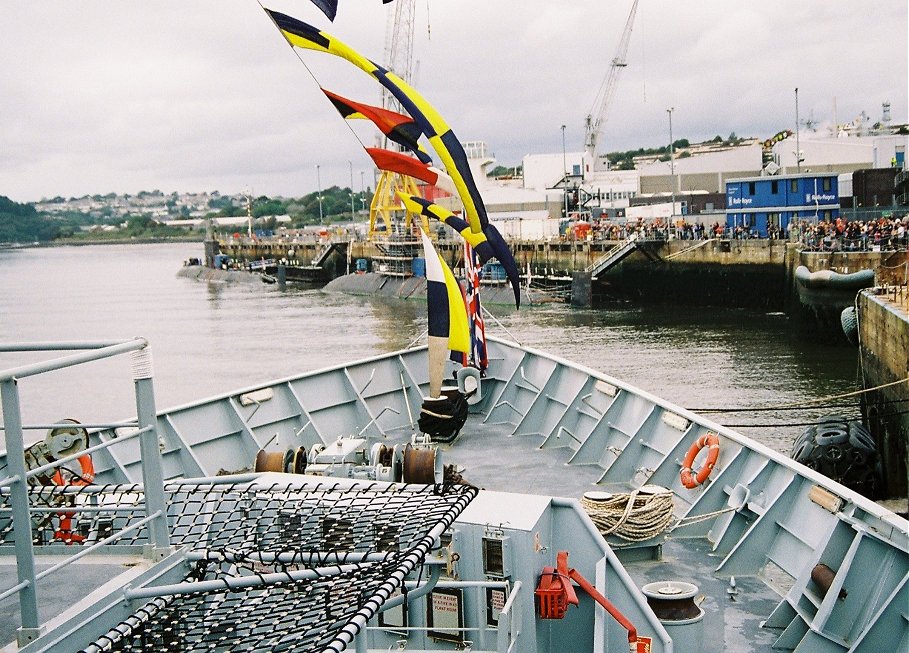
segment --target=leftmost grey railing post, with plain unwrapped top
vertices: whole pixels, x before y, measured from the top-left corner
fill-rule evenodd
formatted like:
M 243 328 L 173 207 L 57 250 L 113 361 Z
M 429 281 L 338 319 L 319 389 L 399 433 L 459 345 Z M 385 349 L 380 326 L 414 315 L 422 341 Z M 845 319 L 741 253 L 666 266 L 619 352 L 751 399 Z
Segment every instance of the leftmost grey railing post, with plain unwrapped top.
M 28 510 L 28 485 L 25 480 L 25 449 L 22 414 L 19 411 L 19 388 L 16 379 L 0 382 L 3 402 L 3 429 L 6 438 L 7 468 L 15 480 L 10 486 L 13 514 L 13 541 L 16 549 L 16 573 L 19 583 L 27 583 L 19 592 L 21 627 L 17 632 L 19 646 L 41 634 L 38 621 L 38 595 L 35 592 L 35 556 L 32 549 L 32 518 Z

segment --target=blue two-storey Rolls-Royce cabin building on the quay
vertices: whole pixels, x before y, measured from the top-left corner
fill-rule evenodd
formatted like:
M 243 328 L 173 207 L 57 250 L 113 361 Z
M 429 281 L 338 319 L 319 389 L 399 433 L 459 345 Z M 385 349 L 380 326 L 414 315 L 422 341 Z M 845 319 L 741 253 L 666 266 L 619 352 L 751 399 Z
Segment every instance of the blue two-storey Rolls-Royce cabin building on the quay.
M 840 195 L 834 173 L 730 179 L 726 182 L 726 227 L 744 227 L 766 238 L 787 233 L 800 220 L 834 220 Z

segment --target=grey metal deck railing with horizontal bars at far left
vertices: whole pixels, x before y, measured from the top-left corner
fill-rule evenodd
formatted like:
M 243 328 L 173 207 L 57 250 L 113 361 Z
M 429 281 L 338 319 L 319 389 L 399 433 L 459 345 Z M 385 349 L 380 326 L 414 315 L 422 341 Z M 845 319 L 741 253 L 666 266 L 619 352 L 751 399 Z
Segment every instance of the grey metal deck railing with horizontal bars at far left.
M 0 371 L 0 400 L 2 400 L 3 406 L 3 425 L 0 428 L 3 430 L 6 442 L 8 469 L 8 476 L 0 480 L 0 491 L 9 494 L 8 510 L 12 514 L 13 542 L 18 575 L 16 585 L 0 593 L 0 598 L 6 598 L 15 593 L 19 594 L 20 628 L 17 630 L 17 641 L 20 647 L 37 639 L 42 634 L 38 614 L 38 596 L 35 589 L 37 581 L 41 578 L 55 573 L 100 547 L 111 544 L 120 537 L 143 527 L 148 527 L 148 539 L 152 555 L 160 557 L 170 550 L 170 532 L 165 506 L 161 451 L 158 446 L 157 411 L 152 385 L 151 352 L 149 351 L 148 341 L 144 338 L 134 338 L 107 342 L 0 343 L 0 353 L 66 351 L 78 353 Z M 132 359 L 137 415 L 133 425 L 137 430 L 34 469 L 26 469 L 24 431 L 47 428 L 72 428 L 73 424 L 72 422 L 67 422 L 23 425 L 19 382 L 31 376 L 122 354 L 130 354 Z M 123 423 L 80 425 L 82 428 L 114 428 L 121 426 L 123 426 Z M 145 517 L 89 546 L 79 547 L 74 555 L 67 557 L 41 573 L 36 573 L 35 549 L 32 539 L 32 512 L 46 512 L 47 510 L 33 508 L 30 505 L 29 479 L 38 475 L 45 475 L 49 470 L 59 468 L 61 465 L 65 465 L 86 454 L 120 444 L 135 437 L 139 438 L 139 448 L 142 457 Z M 79 492 L 88 491 L 91 493 L 91 490 L 92 488 L 78 488 Z M 60 491 L 66 492 L 65 488 L 61 488 Z M 64 509 L 55 510 L 55 512 L 86 510 L 90 511 L 91 507 L 66 506 Z

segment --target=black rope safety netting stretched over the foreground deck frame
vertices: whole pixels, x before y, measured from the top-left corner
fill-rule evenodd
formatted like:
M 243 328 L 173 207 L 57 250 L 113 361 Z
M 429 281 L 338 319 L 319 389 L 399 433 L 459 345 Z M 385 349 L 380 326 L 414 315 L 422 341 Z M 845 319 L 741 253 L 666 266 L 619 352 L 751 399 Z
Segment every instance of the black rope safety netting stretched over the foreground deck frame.
M 185 547 L 187 573 L 142 588 L 148 596 L 134 599 L 133 614 L 82 650 L 342 651 L 476 492 L 302 480 L 168 484 L 171 544 Z M 144 517 L 140 486 L 35 490 L 58 508 L 61 493 L 71 506 L 102 510 L 92 513 L 86 543 L 124 528 L 118 544 L 148 542 L 147 526 L 129 530 Z

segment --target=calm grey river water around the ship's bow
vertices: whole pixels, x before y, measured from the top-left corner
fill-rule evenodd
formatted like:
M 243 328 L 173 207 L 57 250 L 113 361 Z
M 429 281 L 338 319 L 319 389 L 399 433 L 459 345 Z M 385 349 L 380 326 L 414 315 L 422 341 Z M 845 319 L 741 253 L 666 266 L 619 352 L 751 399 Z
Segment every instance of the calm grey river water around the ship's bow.
M 152 346 L 160 409 L 394 351 L 426 328 L 426 305 L 418 301 L 177 277 L 183 260 L 201 255 L 196 243 L 0 250 L 0 342 L 143 336 Z M 782 314 L 563 304 L 493 312 L 508 331 L 487 320 L 493 334 L 686 408 L 775 406 L 855 389 L 856 350 L 801 340 Z M 0 353 L 0 369 L 37 359 Z M 131 378 L 123 357 L 23 379 L 23 420 L 127 417 L 135 411 Z M 827 412 L 714 418 L 788 453 L 803 427 L 782 424 Z

